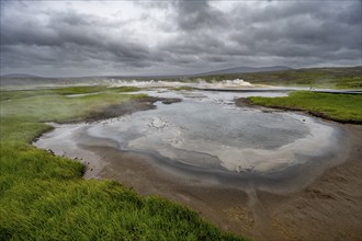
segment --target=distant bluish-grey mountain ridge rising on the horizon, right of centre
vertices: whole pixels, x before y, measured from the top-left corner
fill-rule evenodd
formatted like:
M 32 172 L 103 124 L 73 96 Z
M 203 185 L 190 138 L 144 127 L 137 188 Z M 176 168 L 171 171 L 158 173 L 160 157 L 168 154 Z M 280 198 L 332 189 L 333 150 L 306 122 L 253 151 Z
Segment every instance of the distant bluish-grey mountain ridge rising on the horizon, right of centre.
M 270 72 L 281 70 L 292 70 L 293 68 L 287 66 L 269 66 L 269 67 L 236 67 L 228 69 L 220 69 L 211 72 L 199 73 L 197 76 L 212 76 L 222 73 L 247 73 L 247 72 Z

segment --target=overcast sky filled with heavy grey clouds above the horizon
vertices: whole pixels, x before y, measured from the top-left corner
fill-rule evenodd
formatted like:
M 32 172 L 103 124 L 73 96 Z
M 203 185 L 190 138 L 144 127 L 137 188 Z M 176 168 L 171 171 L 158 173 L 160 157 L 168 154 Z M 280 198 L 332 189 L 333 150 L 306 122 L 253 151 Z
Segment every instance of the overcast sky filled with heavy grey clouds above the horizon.
M 1 74 L 359 66 L 361 8 L 361 0 L 1 0 Z

